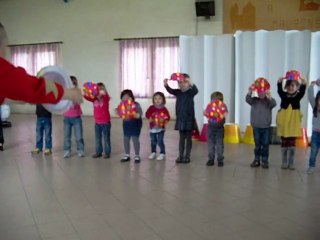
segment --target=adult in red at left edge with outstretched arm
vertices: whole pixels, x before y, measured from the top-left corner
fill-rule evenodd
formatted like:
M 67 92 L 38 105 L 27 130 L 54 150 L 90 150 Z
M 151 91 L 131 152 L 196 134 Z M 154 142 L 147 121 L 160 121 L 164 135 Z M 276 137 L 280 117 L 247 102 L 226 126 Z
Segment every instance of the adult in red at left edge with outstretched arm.
M 79 89 L 64 89 L 58 83 L 30 76 L 20 67 L 5 60 L 7 34 L 0 23 L 0 105 L 6 98 L 28 103 L 57 103 L 62 98 L 82 102 Z M 0 119 L 0 150 L 3 150 L 2 122 Z

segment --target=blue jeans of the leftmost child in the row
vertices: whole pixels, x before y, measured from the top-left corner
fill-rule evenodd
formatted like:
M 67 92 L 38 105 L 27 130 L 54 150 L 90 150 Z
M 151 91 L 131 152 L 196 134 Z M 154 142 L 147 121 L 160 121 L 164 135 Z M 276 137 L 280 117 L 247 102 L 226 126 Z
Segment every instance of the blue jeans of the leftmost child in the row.
M 45 135 L 45 148 L 52 149 L 52 121 L 51 118 L 37 118 L 37 143 L 36 148 L 43 148 L 43 134 Z

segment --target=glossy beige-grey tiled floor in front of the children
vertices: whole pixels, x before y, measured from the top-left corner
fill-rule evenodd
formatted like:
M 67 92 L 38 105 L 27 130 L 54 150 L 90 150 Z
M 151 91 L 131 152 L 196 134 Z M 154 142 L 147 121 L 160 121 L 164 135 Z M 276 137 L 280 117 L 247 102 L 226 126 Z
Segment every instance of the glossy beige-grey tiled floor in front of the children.
M 280 169 L 279 146 L 270 169 L 251 169 L 252 145 L 226 144 L 225 166 L 205 166 L 207 145 L 194 142 L 192 162 L 176 165 L 177 132 L 168 126 L 167 160 L 120 163 L 122 128 L 112 120 L 111 159 L 92 159 L 93 120 L 83 118 L 87 157 L 63 159 L 63 121 L 54 117 L 53 155 L 33 156 L 35 117 L 14 115 L 0 152 L 1 240 L 320 239 L 320 172 Z M 73 147 L 74 148 L 74 147 Z

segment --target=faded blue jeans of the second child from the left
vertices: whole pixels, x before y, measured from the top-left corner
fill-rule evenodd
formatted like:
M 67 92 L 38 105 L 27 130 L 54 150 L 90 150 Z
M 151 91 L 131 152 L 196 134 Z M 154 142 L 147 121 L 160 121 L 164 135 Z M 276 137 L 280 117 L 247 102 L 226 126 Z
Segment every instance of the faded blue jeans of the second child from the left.
M 77 150 L 84 151 L 81 117 L 64 117 L 64 150 L 71 151 L 71 133 L 74 128 L 74 136 L 77 142 Z

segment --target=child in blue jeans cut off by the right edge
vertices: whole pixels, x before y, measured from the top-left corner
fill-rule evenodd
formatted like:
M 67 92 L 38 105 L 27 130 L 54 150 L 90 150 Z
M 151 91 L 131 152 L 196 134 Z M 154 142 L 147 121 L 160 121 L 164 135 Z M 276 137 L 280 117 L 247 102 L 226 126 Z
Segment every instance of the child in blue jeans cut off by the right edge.
M 312 118 L 312 136 L 311 136 L 311 151 L 309 157 L 309 168 L 307 174 L 312 174 L 316 167 L 317 155 L 320 147 L 320 91 L 317 92 L 316 97 L 314 97 L 314 87 L 320 86 L 320 79 L 311 82 L 308 88 L 308 98 L 310 105 L 313 109 Z

